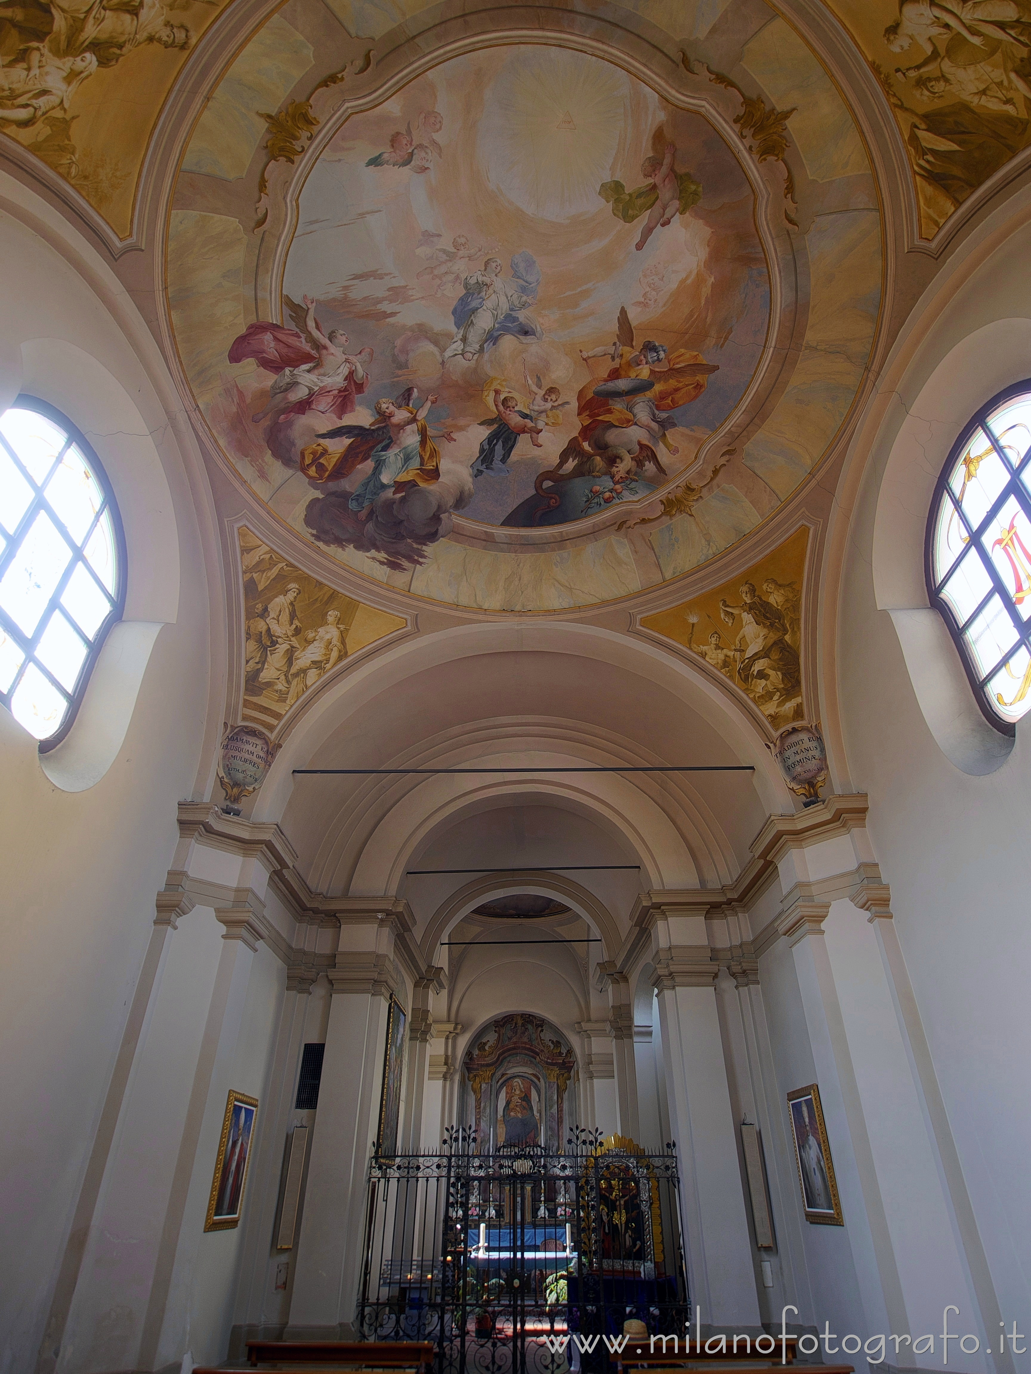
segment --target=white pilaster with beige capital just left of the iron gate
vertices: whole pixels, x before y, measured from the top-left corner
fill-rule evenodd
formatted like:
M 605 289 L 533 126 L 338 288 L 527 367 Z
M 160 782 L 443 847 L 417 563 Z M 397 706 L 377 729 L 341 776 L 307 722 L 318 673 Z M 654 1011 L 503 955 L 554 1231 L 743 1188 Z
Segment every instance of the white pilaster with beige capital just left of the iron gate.
M 390 996 L 403 991 L 393 947 L 410 921 L 389 904 L 351 912 L 341 927 L 286 1340 L 353 1330 Z

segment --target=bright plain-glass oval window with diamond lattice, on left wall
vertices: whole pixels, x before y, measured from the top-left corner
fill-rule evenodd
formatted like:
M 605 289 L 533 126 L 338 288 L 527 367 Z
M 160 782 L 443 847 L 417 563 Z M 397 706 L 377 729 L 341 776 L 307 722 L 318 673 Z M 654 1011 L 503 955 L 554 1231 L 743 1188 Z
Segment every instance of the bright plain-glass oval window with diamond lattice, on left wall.
M 0 701 L 52 749 L 74 720 L 125 602 L 107 477 L 60 411 L 19 396 L 0 415 Z

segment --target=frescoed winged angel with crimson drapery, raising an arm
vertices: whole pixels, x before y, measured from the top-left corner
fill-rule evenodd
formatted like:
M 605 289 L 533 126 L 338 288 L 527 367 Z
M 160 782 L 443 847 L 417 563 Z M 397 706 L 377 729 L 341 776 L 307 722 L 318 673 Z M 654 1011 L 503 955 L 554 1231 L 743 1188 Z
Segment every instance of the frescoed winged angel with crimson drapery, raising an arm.
M 230 363 L 253 357 L 265 372 L 275 372 L 268 404 L 252 416 L 253 423 L 260 425 L 275 415 L 282 425 L 291 415 L 307 411 L 344 419 L 355 409 L 356 397 L 368 387 L 371 348 L 348 353 L 348 335 L 344 330 L 326 333 L 322 328 L 309 295 L 304 298 L 304 311 L 289 297 L 286 305 L 300 328 L 254 320 L 230 346 Z

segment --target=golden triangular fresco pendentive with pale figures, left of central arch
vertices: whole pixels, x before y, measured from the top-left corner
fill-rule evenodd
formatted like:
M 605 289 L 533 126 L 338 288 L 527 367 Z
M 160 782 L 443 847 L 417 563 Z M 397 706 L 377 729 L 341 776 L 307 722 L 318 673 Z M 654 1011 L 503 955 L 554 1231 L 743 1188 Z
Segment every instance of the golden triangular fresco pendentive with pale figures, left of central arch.
M 407 621 L 316 581 L 245 525 L 238 536 L 245 609 L 241 714 L 274 731 L 326 673 Z

